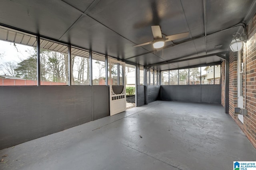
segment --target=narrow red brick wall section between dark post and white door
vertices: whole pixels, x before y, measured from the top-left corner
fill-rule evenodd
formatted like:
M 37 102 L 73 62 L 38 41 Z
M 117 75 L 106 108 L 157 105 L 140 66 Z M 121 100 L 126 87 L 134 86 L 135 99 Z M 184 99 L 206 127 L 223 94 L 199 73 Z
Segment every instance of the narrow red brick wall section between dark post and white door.
M 229 114 L 233 119 L 237 118 L 234 114 L 237 107 L 237 52 L 230 51 L 229 54 Z

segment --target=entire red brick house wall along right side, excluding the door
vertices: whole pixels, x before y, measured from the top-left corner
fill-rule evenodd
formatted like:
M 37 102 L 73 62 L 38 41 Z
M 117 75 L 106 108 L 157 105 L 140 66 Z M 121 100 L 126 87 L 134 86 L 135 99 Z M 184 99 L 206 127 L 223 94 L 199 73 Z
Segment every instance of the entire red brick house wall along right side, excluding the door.
M 248 115 L 244 116 L 244 124 L 242 129 L 256 148 L 256 15 L 250 20 L 248 27 L 248 41 L 244 43 L 242 51 L 243 58 L 246 58 L 246 94 L 243 84 L 243 96 L 246 98 L 245 108 Z M 245 62 L 245 61 L 243 61 Z M 237 120 L 237 115 L 234 114 L 234 107 L 237 107 L 238 89 L 237 89 L 237 64 L 238 53 L 230 51 L 230 68 L 229 68 L 229 114 L 234 120 Z M 225 62 L 222 62 L 222 98 L 221 104 L 225 106 Z M 236 121 L 238 125 L 239 121 Z

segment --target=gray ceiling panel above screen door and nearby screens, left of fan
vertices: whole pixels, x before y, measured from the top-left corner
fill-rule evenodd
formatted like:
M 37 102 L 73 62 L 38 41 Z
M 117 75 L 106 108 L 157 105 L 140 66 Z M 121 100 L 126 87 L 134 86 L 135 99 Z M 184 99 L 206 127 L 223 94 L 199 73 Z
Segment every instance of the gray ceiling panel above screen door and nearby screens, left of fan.
M 60 40 L 120 59 L 148 52 L 132 47 L 132 42 L 88 16 L 82 16 Z

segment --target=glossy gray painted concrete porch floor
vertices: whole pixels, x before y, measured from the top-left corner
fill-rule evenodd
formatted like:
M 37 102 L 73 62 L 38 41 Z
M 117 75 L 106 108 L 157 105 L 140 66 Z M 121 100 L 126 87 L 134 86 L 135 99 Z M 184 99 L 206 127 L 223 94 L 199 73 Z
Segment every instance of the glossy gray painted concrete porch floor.
M 256 160 L 224 107 L 165 101 L 0 150 L 5 154 L 1 170 L 228 170 L 233 161 Z

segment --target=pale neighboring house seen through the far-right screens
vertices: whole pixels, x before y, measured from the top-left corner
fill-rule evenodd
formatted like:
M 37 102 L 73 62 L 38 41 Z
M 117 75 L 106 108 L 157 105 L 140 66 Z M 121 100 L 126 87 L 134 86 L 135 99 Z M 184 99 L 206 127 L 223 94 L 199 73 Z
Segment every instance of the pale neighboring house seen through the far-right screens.
M 215 73 L 215 84 L 220 84 L 220 65 L 206 66 L 204 68 L 206 74 L 202 74 L 202 84 L 214 84 L 214 73 Z

